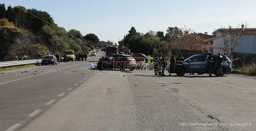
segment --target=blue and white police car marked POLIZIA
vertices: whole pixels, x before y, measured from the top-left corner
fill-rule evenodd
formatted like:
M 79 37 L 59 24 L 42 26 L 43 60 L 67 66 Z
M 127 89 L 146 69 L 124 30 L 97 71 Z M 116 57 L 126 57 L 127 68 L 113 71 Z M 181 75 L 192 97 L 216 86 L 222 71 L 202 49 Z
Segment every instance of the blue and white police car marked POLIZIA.
M 177 66 L 174 65 L 171 69 L 171 73 L 176 73 L 178 76 L 183 76 L 185 73 L 199 73 L 199 74 L 208 74 L 207 70 L 207 59 L 211 53 L 204 53 L 202 55 L 193 55 L 189 58 L 186 58 L 183 62 L 183 68 L 180 73 L 178 73 Z M 223 76 L 224 74 L 230 74 L 232 72 L 231 61 L 226 55 L 221 55 L 223 57 L 222 72 L 220 68 L 217 68 L 217 63 L 212 70 L 212 74 L 215 76 Z M 217 61 L 218 55 L 213 55 L 214 61 Z M 169 72 L 168 68 L 168 72 Z

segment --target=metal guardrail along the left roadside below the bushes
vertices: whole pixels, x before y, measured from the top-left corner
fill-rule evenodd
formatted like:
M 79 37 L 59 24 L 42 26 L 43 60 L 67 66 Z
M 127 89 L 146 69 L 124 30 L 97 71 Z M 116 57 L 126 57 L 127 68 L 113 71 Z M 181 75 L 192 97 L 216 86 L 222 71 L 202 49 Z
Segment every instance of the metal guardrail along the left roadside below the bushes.
M 42 59 L 5 61 L 5 62 L 0 62 L 0 67 L 35 64 L 35 63 L 41 63 L 41 61 L 42 61 Z

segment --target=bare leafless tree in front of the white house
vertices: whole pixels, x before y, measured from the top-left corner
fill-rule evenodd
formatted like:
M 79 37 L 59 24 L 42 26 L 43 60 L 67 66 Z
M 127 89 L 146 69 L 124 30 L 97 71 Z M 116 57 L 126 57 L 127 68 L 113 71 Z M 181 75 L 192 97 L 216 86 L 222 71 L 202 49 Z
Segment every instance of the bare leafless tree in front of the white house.
M 246 30 L 247 24 L 242 24 L 242 28 L 239 27 L 240 24 L 238 24 L 237 28 L 232 28 L 232 26 L 229 26 L 228 29 L 225 27 L 221 27 L 220 29 L 221 37 L 229 57 L 232 56 L 233 52 L 237 52 L 238 47 L 243 42 L 243 34 Z

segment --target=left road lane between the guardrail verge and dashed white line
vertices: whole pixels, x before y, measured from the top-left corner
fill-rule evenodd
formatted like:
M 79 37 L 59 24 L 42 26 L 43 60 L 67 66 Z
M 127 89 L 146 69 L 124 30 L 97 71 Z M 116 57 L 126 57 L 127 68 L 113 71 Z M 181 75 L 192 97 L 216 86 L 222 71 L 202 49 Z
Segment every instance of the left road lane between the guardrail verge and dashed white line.
M 98 55 L 103 55 L 103 52 Z M 4 74 L 0 74 L 0 131 L 5 131 L 21 121 L 22 126 L 28 124 L 35 118 L 32 116 L 41 114 L 45 108 L 60 101 L 94 76 L 95 70 L 89 70 L 84 65 L 95 63 L 96 59 L 88 57 L 87 61 L 2 72 Z

